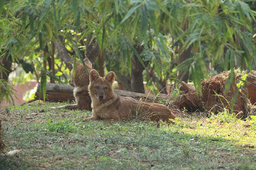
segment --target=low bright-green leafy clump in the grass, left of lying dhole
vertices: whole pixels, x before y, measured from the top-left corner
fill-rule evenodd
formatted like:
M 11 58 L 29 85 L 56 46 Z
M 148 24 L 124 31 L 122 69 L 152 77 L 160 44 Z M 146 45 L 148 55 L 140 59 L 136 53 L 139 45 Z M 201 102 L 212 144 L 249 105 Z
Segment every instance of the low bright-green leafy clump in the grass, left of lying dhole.
M 69 133 L 73 132 L 76 129 L 74 122 L 67 122 L 67 120 L 61 120 L 58 122 L 51 122 L 48 120 L 47 125 L 45 126 L 45 129 L 48 132 L 55 132 L 55 133 Z

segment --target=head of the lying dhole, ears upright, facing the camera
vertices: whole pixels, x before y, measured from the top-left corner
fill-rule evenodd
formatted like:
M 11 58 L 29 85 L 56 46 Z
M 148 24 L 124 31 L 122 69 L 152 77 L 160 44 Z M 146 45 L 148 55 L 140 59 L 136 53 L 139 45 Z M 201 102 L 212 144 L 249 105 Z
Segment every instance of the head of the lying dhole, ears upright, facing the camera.
M 90 71 L 90 84 L 88 86 L 90 97 L 103 101 L 113 96 L 112 84 L 115 79 L 115 73 L 109 72 L 105 77 L 100 77 L 98 71 Z

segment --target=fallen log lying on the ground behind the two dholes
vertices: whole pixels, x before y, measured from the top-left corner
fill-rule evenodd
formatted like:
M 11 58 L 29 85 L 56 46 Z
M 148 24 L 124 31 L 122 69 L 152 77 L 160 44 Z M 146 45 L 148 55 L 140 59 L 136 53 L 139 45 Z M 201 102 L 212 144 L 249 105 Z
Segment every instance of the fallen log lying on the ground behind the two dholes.
M 41 83 L 38 83 L 37 90 L 35 92 L 35 99 L 39 99 L 39 91 L 40 91 Z M 72 102 L 75 101 L 75 97 L 73 96 L 73 89 L 71 85 L 63 85 L 63 84 L 54 84 L 54 83 L 46 83 L 46 101 L 50 102 Z M 114 89 L 114 92 L 119 96 L 128 96 L 134 99 L 142 99 L 146 102 L 155 102 L 160 99 L 167 99 L 169 96 L 166 94 L 158 94 L 157 96 L 135 93 L 131 91 L 117 90 Z M 43 96 L 41 99 L 43 100 Z

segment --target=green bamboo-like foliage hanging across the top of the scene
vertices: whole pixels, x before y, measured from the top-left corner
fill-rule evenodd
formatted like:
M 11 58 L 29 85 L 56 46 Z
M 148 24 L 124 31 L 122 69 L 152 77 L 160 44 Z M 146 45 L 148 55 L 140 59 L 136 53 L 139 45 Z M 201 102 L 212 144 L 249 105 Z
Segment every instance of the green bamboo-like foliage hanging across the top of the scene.
M 81 59 L 86 36 L 91 34 L 89 43 L 95 38 L 109 71 L 130 76 L 135 56 L 146 72 L 154 68 L 161 80 L 172 81 L 177 71 L 189 72 L 201 91 L 209 65 L 218 72 L 244 63 L 250 70 L 255 69 L 253 9 L 255 3 L 250 0 L 5 1 L 0 5 L 0 58 L 8 54 L 13 61 L 25 59 L 34 65 L 35 74 L 41 75 L 45 85 L 51 74 L 45 77 L 41 65 L 50 56 L 58 35 L 64 38 L 71 55 Z M 143 51 L 139 53 L 137 46 Z M 190 56 L 179 63 L 178 58 L 188 49 Z M 64 64 L 58 67 L 64 75 L 69 73 L 64 71 Z M 23 68 L 32 72 L 29 65 L 23 64 Z M 67 83 L 64 75 L 58 74 L 59 79 Z M 230 77 L 226 87 L 232 82 Z

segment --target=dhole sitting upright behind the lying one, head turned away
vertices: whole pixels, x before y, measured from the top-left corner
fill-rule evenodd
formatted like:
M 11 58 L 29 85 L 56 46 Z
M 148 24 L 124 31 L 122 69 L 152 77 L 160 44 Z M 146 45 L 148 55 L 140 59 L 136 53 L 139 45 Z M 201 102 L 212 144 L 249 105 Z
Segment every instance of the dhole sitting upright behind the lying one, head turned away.
M 74 64 L 74 59 L 71 59 L 72 63 Z M 52 109 L 57 108 L 67 108 L 67 109 L 84 109 L 84 110 L 91 110 L 91 99 L 88 94 L 88 85 L 89 85 L 89 72 L 92 70 L 92 63 L 88 58 L 84 59 L 84 64 L 87 68 L 87 71 L 84 69 L 84 66 L 81 62 L 76 60 L 76 74 L 74 77 L 74 69 L 71 71 L 72 77 L 72 85 L 75 86 L 73 90 L 73 94 L 76 99 L 76 104 L 74 105 L 64 105 L 64 106 L 57 106 L 52 107 Z

